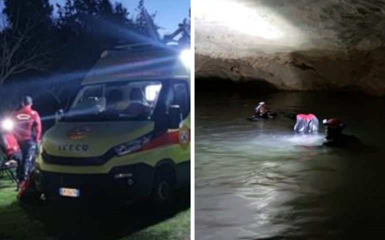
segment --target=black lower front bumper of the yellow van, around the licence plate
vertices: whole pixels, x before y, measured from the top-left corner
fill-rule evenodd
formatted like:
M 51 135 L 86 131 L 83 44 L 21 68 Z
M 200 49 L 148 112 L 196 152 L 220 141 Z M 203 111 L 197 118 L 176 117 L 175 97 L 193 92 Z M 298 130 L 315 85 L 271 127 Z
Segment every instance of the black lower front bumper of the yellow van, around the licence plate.
M 107 174 L 69 174 L 37 170 L 34 175 L 38 190 L 51 198 L 61 196 L 60 188 L 79 190 L 80 199 L 137 200 L 151 194 L 154 168 L 143 164 L 118 166 Z

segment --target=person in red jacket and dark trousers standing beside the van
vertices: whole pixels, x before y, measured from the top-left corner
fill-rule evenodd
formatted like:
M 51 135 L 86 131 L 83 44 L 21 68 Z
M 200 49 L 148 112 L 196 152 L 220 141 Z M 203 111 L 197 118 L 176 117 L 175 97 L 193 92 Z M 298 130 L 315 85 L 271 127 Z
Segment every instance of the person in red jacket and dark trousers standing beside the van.
M 33 169 L 37 146 L 41 137 L 41 121 L 37 111 L 32 109 L 32 98 L 24 96 L 21 108 L 13 113 L 15 120 L 14 135 L 20 145 L 22 160 L 20 184 Z

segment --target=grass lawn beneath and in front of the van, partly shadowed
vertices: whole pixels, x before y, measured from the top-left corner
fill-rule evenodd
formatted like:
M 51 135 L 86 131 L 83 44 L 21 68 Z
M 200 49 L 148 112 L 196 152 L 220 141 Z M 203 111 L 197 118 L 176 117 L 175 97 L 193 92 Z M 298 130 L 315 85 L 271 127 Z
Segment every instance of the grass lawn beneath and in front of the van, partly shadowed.
M 15 185 L 0 179 L 0 239 L 190 239 L 190 195 L 185 189 L 167 207 L 16 200 Z

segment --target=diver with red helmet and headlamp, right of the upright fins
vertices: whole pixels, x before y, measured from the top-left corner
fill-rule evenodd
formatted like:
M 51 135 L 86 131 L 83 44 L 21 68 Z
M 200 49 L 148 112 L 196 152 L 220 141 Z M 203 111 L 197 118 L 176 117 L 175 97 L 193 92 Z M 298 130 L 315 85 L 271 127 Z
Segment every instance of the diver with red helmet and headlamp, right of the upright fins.
M 359 143 L 359 139 L 353 135 L 346 135 L 342 133 L 345 128 L 345 123 L 337 118 L 324 119 L 322 121 L 325 126 L 326 137 L 323 145 L 345 147 Z

